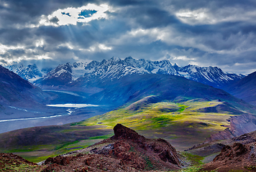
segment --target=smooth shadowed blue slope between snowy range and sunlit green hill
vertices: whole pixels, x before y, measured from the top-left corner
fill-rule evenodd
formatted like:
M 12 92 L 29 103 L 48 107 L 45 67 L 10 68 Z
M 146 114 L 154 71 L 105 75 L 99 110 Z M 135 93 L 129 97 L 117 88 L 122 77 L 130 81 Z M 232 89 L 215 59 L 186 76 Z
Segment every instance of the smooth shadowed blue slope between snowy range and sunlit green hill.
M 116 80 L 110 78 L 101 80 L 99 78 L 93 82 L 88 82 L 86 78 L 80 78 L 71 86 L 98 88 L 100 91 L 92 94 L 90 101 L 100 104 L 123 105 L 126 102 L 137 101 L 149 95 L 157 95 L 161 100 L 174 100 L 181 96 L 223 100 L 234 103 L 234 106 L 237 106 L 237 103 L 241 103 L 240 107 L 248 106 L 245 102 L 223 90 L 173 75 L 127 75 Z

